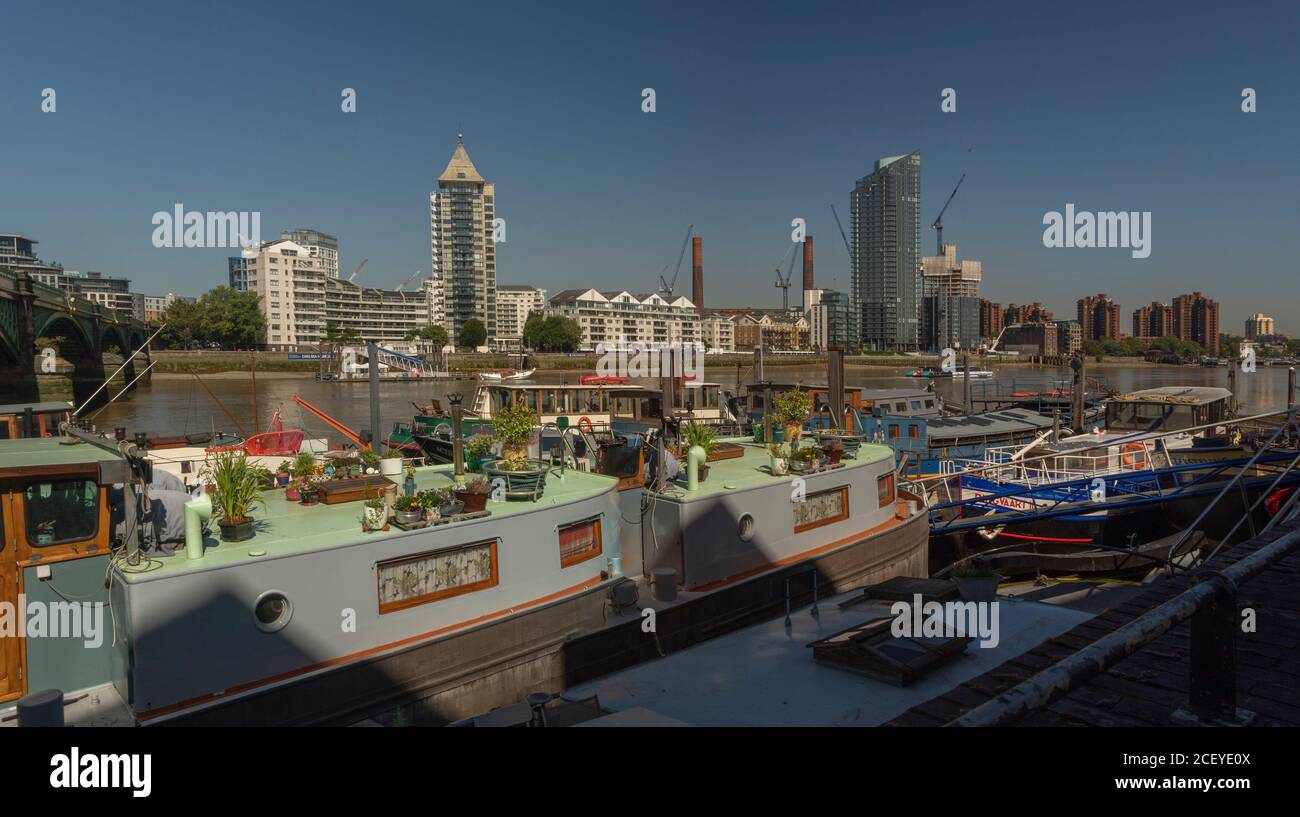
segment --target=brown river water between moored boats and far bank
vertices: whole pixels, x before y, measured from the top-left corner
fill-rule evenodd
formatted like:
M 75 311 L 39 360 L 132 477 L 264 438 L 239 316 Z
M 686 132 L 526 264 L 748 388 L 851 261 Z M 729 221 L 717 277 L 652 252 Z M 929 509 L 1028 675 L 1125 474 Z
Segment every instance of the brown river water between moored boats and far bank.
M 850 386 L 867 388 L 924 388 L 924 380 L 904 376 L 904 368 L 849 367 L 845 380 Z M 972 394 L 976 399 L 987 390 L 989 395 L 996 389 L 1045 390 L 1067 386 L 1070 372 L 1063 368 L 1032 368 L 1014 366 L 993 369 L 994 377 L 974 381 Z M 538 371 L 536 382 L 576 384 L 582 372 Z M 1130 392 L 1164 385 L 1208 385 L 1227 386 L 1226 368 L 1204 368 L 1191 366 L 1092 366 L 1088 377 L 1105 381 L 1109 386 Z M 744 368 L 741 381 L 753 379 L 753 372 Z M 826 369 L 815 366 L 768 367 L 767 377 L 774 382 L 826 382 Z M 729 367 L 708 368 L 706 380 L 719 382 L 724 389 L 736 392 L 737 371 Z M 988 384 L 988 385 L 985 385 Z M 216 399 L 208 395 L 208 392 Z M 412 402 L 426 403 L 438 398 L 447 406 L 447 395 L 462 393 L 467 405 L 473 399 L 476 381 L 425 381 L 425 382 L 384 382 L 380 385 L 380 416 L 385 435 L 394 420 L 408 420 L 415 412 Z M 946 399 L 962 402 L 962 381 L 936 380 L 936 390 Z M 1287 402 L 1287 369 L 1282 367 L 1260 367 L 1256 372 L 1239 372 L 1236 377 L 1238 402 L 1243 411 L 1260 412 L 1284 408 Z M 194 433 L 200 431 L 228 431 L 244 435 L 266 431 L 272 415 L 278 408 L 283 414 L 286 428 L 298 427 L 308 436 L 337 440 L 321 420 L 303 411 L 292 402 L 300 395 L 321 411 L 332 415 L 354 429 L 369 428 L 369 385 L 367 382 L 317 382 L 309 373 L 265 372 L 257 375 L 256 419 L 254 418 L 252 380 L 244 375 L 209 375 L 203 384 L 191 376 L 156 376 L 150 385 L 142 385 L 131 394 L 122 395 L 94 423 L 99 428 L 125 427 L 130 433 L 143 431 L 159 436 Z M 220 405 L 218 402 L 220 401 Z

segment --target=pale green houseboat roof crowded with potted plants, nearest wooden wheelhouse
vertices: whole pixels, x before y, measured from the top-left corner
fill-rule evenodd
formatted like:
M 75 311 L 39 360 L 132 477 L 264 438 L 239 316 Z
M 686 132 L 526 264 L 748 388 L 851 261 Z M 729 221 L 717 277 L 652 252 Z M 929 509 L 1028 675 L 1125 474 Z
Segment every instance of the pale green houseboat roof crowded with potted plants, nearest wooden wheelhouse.
M 468 474 L 467 479 L 477 475 Z M 402 493 L 402 483 L 406 475 L 389 477 L 398 484 L 398 493 Z M 417 467 L 415 474 L 416 489 L 441 489 L 452 484 L 452 467 L 425 466 Z M 541 507 L 577 502 L 612 490 L 616 480 L 601 474 L 586 474 L 569 468 L 560 476 L 558 470 L 546 477 L 546 492 L 537 502 L 488 501 L 488 510 L 491 516 L 478 519 L 465 519 L 450 523 L 458 529 L 463 526 L 490 523 L 502 516 L 526 514 Z M 390 526 L 387 531 L 363 532 L 361 519 L 364 515 L 364 502 L 342 502 L 338 505 L 304 506 L 290 502 L 285 498 L 283 489 L 264 490 L 263 503 L 254 513 L 256 535 L 240 542 L 225 542 L 217 536 L 217 526 L 212 523 L 209 532 L 204 537 L 205 550 L 202 559 L 188 559 L 183 545 L 178 545 L 173 556 L 148 554 L 140 567 L 122 570 L 122 579 L 127 583 L 151 582 L 155 579 L 174 576 L 183 572 L 198 572 L 217 570 L 235 565 L 251 558 L 276 558 L 292 556 L 313 550 L 328 550 L 359 545 L 386 536 L 412 536 L 428 535 L 428 528 L 416 531 L 403 531 L 396 526 Z

